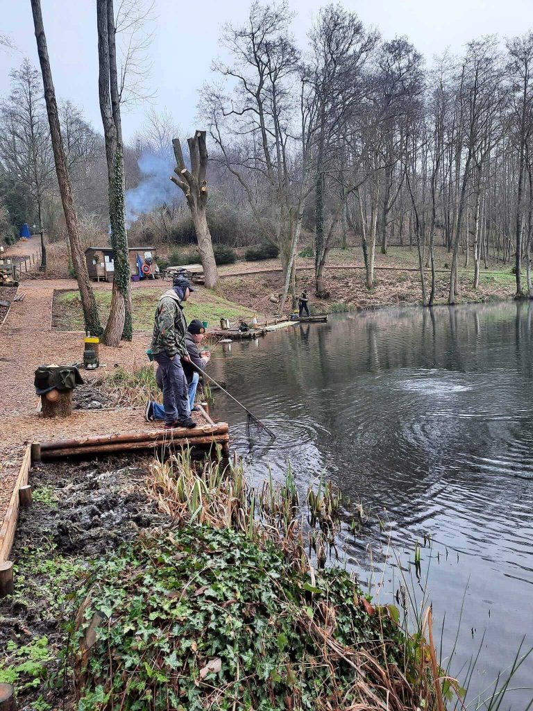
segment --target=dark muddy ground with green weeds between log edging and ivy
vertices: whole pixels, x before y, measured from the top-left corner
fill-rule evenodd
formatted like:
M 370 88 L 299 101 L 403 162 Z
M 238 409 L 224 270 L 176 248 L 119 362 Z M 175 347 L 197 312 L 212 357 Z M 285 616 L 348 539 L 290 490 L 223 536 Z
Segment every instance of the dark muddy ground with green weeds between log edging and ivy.
M 31 471 L 34 503 L 21 510 L 11 552 L 15 594 L 0 600 L 0 682 L 14 685 L 19 710 L 72 707 L 60 650 L 80 579 L 90 560 L 166 521 L 144 493 L 148 465 L 113 457 Z

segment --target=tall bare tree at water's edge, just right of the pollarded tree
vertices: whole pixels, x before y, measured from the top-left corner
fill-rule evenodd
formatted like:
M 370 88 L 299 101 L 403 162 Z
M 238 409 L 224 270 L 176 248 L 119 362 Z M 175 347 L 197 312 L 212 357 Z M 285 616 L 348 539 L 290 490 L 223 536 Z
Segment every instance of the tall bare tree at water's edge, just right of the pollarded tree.
M 220 151 L 215 160 L 242 186 L 264 240 L 279 246 L 284 299 L 295 293 L 294 258 L 311 192 L 316 106 L 289 36 L 286 6 L 254 2 L 242 27 L 226 26 L 231 63 L 217 63 L 222 90 L 208 87 L 203 108 Z M 227 89 L 227 92 L 224 91 Z

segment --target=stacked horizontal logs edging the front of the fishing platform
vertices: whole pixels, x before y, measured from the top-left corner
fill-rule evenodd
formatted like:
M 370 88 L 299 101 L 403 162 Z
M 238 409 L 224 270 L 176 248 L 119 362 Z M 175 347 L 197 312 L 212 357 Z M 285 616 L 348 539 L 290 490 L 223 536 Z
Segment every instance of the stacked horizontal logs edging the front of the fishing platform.
M 202 424 L 194 429 L 187 427 L 173 427 L 172 429 L 151 429 L 146 432 L 126 432 L 125 434 L 104 434 L 96 437 L 82 437 L 82 439 L 51 439 L 49 442 L 41 442 L 41 457 L 45 459 L 48 451 L 57 449 L 80 449 L 83 447 L 101 447 L 107 444 L 126 444 L 129 442 L 147 442 L 152 444 L 164 444 L 176 439 L 188 439 L 194 442 L 196 439 L 207 435 L 217 437 L 229 431 L 227 422 L 217 422 L 216 424 Z

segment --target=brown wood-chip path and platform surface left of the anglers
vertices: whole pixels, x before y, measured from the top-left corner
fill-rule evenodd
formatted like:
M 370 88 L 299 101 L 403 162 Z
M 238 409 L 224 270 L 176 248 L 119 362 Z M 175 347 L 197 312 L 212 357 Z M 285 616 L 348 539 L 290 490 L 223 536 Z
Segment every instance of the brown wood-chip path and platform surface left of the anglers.
M 82 360 L 82 333 L 50 330 L 53 291 L 65 285 L 76 287 L 75 282 L 63 279 L 24 282 L 19 287 L 25 294 L 23 301 L 12 304 L 0 328 L 0 521 L 26 442 L 153 429 L 144 422 L 142 408 L 77 411 L 65 420 L 43 419 L 38 414 L 39 398 L 33 387 L 38 365 L 70 365 Z M 134 360 L 144 362 L 148 342 L 149 333 L 136 333 L 133 343 L 124 347 L 102 346 L 100 359 L 107 369 L 115 364 L 131 366 Z

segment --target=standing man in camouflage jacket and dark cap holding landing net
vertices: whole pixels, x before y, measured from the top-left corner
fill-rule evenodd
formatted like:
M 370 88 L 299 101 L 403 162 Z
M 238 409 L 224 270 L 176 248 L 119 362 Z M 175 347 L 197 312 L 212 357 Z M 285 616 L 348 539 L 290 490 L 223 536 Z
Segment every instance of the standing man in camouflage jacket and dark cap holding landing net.
M 187 323 L 183 316 L 183 301 L 193 289 L 188 279 L 176 277 L 173 288 L 158 301 L 151 349 L 163 376 L 163 407 L 165 427 L 195 427 L 190 417 L 187 380 L 181 359 L 187 361 L 185 335 Z

